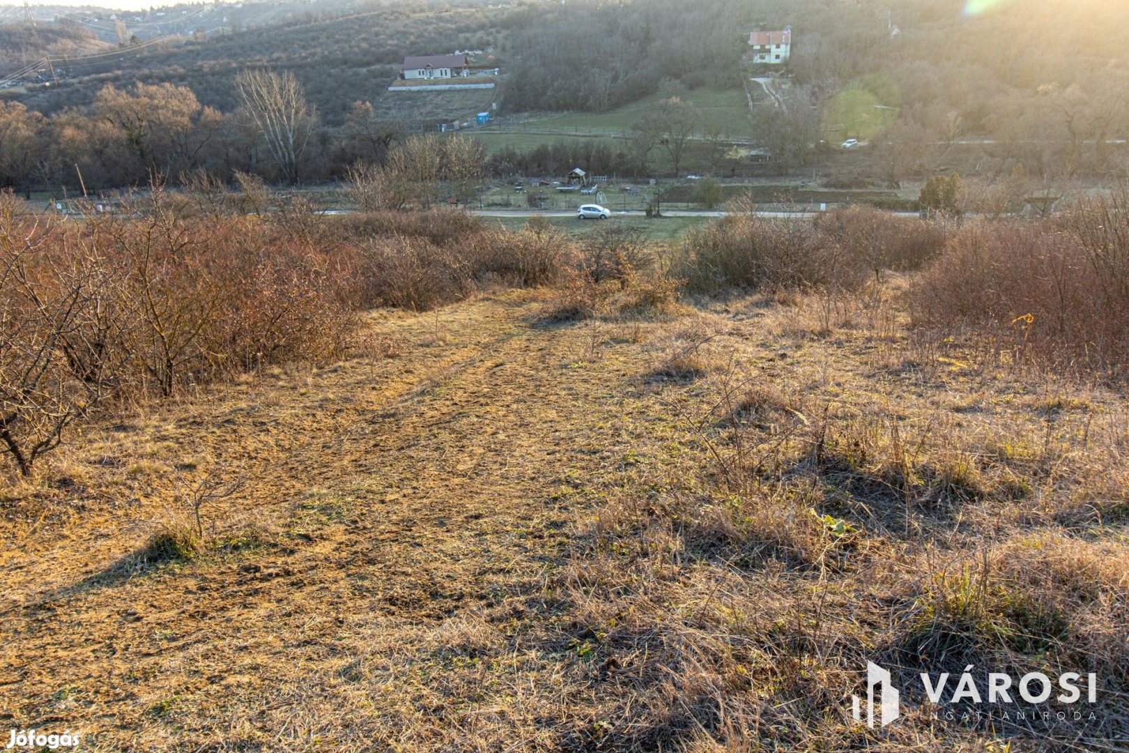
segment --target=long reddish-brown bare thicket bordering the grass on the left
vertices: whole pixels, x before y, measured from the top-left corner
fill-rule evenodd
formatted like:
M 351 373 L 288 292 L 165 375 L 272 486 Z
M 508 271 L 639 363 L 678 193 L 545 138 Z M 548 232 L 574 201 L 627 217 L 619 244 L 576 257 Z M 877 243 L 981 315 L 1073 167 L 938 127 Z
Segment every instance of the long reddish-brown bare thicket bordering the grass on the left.
M 344 352 L 358 312 L 545 284 L 569 261 L 551 226 L 505 233 L 450 211 L 317 221 L 300 204 L 247 217 L 205 184 L 73 224 L 6 210 L 0 426 L 23 473 L 110 396 L 324 362 Z

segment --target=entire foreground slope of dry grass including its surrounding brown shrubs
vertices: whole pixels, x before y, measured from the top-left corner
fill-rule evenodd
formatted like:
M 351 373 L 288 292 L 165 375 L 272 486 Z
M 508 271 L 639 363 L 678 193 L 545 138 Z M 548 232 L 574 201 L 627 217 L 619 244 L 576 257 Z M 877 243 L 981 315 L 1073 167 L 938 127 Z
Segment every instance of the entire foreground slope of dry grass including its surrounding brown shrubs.
M 1124 279 L 1118 211 L 732 214 L 657 247 L 175 211 L 0 235 L 0 438 L 50 445 L 52 405 L 106 391 L 23 473 L 5 458 L 0 729 L 106 752 L 1129 744 L 1122 294 L 1087 277 Z M 886 727 L 852 719 L 868 662 L 902 692 Z M 949 674 L 943 706 L 922 672 Z M 1034 672 L 1093 673 L 1093 699 L 948 702 Z

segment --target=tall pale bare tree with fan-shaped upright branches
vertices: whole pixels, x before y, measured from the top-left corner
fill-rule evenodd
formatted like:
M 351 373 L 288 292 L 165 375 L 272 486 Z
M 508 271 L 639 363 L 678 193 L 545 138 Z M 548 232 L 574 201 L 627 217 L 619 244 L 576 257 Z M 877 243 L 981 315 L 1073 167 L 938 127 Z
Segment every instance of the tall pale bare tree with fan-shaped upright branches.
M 298 183 L 301 156 L 317 126 L 317 111 L 292 73 L 243 71 L 235 78 L 239 104 L 266 141 L 282 175 Z

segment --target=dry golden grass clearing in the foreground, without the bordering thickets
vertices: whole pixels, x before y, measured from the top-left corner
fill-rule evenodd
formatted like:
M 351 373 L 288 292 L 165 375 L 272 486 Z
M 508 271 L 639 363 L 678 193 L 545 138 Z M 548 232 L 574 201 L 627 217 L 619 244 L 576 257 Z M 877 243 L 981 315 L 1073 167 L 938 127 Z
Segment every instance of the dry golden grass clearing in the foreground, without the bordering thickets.
M 1114 750 L 1129 410 L 914 348 L 898 284 L 379 313 L 371 352 L 87 426 L 3 490 L 5 721 L 97 751 Z M 199 498 L 207 543 L 155 539 Z M 1110 695 L 1066 733 L 922 699 L 874 732 L 867 658 L 1076 660 Z

